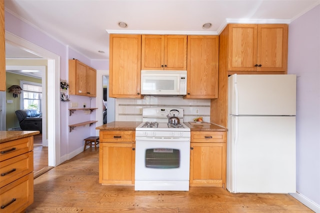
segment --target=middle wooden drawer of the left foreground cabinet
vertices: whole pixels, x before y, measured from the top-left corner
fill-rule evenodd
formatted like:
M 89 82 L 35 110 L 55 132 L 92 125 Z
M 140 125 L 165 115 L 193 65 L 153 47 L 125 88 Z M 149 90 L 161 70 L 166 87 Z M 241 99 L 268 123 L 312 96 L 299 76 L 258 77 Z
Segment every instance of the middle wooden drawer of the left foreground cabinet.
M 1 162 L 0 188 L 33 171 L 33 152 Z

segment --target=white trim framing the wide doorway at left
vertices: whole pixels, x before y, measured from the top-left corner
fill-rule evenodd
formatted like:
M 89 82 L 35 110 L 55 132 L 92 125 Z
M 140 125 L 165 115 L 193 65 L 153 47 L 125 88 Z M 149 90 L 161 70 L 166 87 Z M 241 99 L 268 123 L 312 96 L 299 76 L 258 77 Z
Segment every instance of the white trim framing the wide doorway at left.
M 5 31 L 5 42 L 18 46 L 35 55 L 47 59 L 47 129 L 48 129 L 48 166 L 57 166 L 60 159 L 60 56 L 34 43 Z

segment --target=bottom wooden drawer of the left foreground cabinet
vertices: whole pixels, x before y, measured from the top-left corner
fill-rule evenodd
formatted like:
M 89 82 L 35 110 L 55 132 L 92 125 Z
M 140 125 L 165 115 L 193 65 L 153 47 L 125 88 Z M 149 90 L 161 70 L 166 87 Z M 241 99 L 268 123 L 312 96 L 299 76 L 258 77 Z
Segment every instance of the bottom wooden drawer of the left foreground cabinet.
M 33 174 L 0 188 L 1 213 L 18 213 L 33 203 Z

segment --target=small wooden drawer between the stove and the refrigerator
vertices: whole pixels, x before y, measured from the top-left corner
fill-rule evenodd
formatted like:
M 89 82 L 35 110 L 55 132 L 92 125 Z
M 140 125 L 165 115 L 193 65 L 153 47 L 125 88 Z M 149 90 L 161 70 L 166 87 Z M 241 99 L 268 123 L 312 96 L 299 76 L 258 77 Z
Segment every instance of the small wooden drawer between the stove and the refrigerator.
M 226 142 L 226 132 L 191 131 L 191 142 L 224 143 Z

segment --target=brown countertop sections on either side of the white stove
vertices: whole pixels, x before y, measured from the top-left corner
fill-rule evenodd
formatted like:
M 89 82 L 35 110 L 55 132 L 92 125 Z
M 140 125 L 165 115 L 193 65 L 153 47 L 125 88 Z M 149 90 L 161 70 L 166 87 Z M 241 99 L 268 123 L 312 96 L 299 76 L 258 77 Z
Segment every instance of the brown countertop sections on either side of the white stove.
M 102 126 L 98 126 L 95 129 L 97 130 L 128 130 L 134 131 L 141 121 L 113 121 Z M 215 124 L 196 124 L 192 125 L 188 122 L 185 122 L 184 125 L 188 126 L 191 131 L 213 131 L 213 132 L 225 132 L 226 128 L 220 127 Z

